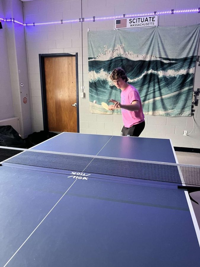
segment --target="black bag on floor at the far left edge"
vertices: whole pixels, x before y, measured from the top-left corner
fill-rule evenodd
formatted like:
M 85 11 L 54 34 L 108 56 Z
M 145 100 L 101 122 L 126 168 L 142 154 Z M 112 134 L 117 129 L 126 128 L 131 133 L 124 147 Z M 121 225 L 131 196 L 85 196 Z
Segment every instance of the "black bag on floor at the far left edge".
M 5 125 L 0 126 L 0 146 L 26 148 L 26 143 L 11 125 Z

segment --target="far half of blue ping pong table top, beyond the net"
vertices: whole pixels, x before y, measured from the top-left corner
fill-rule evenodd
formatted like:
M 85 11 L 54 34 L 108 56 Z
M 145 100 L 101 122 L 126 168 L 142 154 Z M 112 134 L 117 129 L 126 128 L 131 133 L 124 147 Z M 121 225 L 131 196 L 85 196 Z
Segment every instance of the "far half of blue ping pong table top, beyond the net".
M 169 139 L 62 133 L 33 149 L 176 163 Z

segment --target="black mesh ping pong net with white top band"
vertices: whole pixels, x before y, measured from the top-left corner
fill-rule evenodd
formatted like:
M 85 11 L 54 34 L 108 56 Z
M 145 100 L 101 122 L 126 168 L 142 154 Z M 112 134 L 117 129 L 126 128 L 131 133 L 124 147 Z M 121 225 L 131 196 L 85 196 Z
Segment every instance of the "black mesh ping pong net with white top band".
M 10 149 L 10 148 L 9 148 Z M 13 148 L 14 149 L 14 148 Z M 200 166 L 17 149 L 4 163 L 200 186 Z M 19 153 L 19 151 L 21 151 Z

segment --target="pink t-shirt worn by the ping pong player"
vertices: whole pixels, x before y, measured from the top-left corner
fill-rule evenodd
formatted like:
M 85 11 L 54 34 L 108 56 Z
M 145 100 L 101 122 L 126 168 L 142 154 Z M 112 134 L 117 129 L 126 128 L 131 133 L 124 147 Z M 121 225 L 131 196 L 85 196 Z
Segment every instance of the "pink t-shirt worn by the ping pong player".
M 124 126 L 127 128 L 130 128 L 132 125 L 144 121 L 144 113 L 142 109 L 140 94 L 134 86 L 129 84 L 125 90 L 121 91 L 121 104 L 130 105 L 135 100 L 140 102 L 140 109 L 138 111 L 129 111 L 127 109 L 121 109 Z

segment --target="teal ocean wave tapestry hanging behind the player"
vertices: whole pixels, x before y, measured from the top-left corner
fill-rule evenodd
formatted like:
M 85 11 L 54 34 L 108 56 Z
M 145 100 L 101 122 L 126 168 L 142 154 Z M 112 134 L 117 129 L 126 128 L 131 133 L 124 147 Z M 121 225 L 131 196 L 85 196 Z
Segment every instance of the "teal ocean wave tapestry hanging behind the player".
M 111 98 L 120 101 L 121 90 L 109 76 L 121 67 L 140 93 L 144 114 L 191 116 L 199 29 L 200 24 L 89 31 L 90 112 L 121 113 L 101 106 Z

